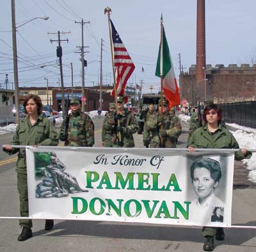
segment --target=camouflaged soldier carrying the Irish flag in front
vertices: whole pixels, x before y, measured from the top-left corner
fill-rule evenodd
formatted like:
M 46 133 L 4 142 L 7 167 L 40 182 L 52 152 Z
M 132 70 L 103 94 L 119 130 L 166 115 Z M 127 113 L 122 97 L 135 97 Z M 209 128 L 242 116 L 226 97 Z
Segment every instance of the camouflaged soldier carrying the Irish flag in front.
M 152 148 L 176 148 L 178 137 L 181 134 L 180 119 L 173 112 L 168 111 L 168 101 L 163 100 L 163 114 L 161 110 L 161 100 L 158 103 L 158 112 L 152 128 L 152 140 L 150 147 Z M 172 108 L 174 110 L 174 108 Z M 162 126 L 163 125 L 163 126 Z M 163 139 L 163 143 L 161 140 Z

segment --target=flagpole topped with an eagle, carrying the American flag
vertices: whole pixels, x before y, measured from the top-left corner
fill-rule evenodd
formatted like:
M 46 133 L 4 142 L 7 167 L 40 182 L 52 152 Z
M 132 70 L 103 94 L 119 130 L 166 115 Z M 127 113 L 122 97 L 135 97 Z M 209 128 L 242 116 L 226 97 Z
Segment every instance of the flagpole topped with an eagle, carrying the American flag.
M 113 40 L 112 40 L 112 29 L 111 29 L 111 24 L 110 24 L 110 12 L 111 8 L 108 6 L 104 10 L 104 14 L 108 13 L 108 27 L 109 27 L 109 39 L 110 39 L 110 48 L 111 48 L 111 57 L 112 57 L 112 70 L 113 70 L 113 85 L 114 85 L 114 91 L 115 91 L 115 105 L 116 105 L 116 114 L 118 112 L 118 107 L 117 107 L 117 94 L 116 94 L 116 74 L 115 74 L 115 58 L 114 58 L 114 48 L 113 48 Z M 117 126 L 120 126 L 120 121 L 119 119 L 117 120 Z M 118 140 L 121 142 L 121 133 L 118 132 Z

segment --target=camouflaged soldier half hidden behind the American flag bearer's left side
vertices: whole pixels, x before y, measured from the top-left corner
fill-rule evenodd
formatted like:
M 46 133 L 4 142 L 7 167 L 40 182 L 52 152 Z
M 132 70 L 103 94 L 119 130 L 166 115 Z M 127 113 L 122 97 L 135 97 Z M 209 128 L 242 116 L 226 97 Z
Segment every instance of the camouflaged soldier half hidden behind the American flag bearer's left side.
M 111 127 L 109 124 L 109 119 L 113 117 L 113 114 L 115 114 L 115 103 L 109 103 L 109 111 L 108 114 L 106 114 L 103 124 L 102 124 L 102 146 L 104 147 L 113 147 L 113 144 L 115 142 L 116 137 L 113 138 L 114 135 L 114 128 Z M 109 130 L 109 128 L 112 128 Z

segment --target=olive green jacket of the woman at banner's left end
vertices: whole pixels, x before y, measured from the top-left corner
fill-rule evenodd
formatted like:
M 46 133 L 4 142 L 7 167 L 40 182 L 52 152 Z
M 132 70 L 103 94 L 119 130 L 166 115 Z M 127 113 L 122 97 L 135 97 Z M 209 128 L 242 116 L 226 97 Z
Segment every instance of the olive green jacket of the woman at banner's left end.
M 49 119 L 40 115 L 32 126 L 28 115 L 17 126 L 11 145 L 55 146 L 58 145 L 58 134 Z M 12 151 L 4 149 L 4 151 L 10 155 L 19 152 L 16 170 L 26 174 L 26 149 L 13 149 Z

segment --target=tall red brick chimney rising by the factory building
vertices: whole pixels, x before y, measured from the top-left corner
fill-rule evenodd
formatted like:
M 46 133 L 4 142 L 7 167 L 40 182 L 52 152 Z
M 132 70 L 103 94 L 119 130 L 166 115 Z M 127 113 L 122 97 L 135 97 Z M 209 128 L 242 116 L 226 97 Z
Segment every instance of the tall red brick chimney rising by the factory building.
M 205 0 L 197 0 L 196 15 L 196 83 L 200 97 L 204 96 L 205 67 Z

